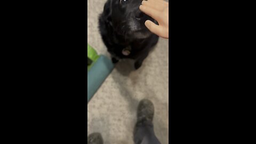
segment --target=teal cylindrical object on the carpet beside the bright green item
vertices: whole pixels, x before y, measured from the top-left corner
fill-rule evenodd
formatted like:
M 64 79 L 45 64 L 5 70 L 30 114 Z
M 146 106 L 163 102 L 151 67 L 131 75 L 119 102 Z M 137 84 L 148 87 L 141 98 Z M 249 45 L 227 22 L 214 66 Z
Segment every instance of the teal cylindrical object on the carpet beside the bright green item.
M 100 55 L 90 70 L 87 71 L 87 103 L 113 69 L 112 61 L 105 55 Z

